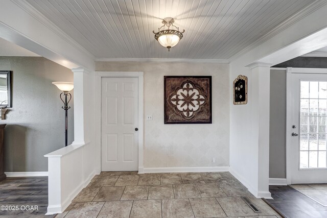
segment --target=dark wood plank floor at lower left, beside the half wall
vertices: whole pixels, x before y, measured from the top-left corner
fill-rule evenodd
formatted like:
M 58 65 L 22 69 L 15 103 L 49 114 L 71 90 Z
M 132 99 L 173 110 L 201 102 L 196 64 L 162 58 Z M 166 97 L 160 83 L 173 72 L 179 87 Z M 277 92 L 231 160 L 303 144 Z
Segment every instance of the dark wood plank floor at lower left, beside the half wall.
M 7 208 L 0 208 L 0 217 L 44 217 L 48 207 L 48 177 L 15 177 L 1 181 L 1 206 Z M 9 210 L 13 206 L 18 206 L 14 207 L 18 210 Z

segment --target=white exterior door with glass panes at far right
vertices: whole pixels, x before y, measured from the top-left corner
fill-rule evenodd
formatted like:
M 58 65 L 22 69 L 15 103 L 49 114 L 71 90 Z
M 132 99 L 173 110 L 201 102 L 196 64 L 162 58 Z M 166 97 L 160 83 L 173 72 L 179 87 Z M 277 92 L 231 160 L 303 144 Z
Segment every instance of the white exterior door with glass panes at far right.
M 327 75 L 293 73 L 291 83 L 291 183 L 327 183 Z

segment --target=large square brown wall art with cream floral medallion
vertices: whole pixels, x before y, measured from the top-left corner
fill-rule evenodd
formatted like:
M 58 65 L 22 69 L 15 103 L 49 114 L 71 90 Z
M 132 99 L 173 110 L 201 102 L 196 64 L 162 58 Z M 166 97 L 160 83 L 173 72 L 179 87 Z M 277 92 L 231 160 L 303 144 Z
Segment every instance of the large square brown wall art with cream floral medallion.
M 211 76 L 164 77 L 165 124 L 212 124 Z

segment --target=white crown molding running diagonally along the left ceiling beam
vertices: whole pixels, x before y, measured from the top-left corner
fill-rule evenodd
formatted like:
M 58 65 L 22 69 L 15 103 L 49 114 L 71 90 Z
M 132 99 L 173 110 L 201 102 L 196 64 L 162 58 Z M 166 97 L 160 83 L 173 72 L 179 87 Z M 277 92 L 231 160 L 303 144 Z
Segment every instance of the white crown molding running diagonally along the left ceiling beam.
M 87 54 L 92 59 L 95 59 L 95 56 L 92 55 L 89 51 L 87 51 L 82 45 L 80 45 L 77 41 L 75 41 L 72 37 L 68 36 L 65 32 L 63 32 L 59 27 L 57 27 L 50 19 L 45 17 L 41 12 L 36 10 L 31 4 L 24 1 L 19 0 L 11 0 L 12 3 L 20 7 L 22 10 L 26 11 L 28 14 L 33 16 L 36 20 L 41 22 L 44 26 L 49 28 L 52 32 L 54 32 L 56 35 L 58 35 L 60 38 L 62 38 L 67 43 L 71 44 L 73 47 L 75 47 L 77 50 L 79 50 L 82 53 Z

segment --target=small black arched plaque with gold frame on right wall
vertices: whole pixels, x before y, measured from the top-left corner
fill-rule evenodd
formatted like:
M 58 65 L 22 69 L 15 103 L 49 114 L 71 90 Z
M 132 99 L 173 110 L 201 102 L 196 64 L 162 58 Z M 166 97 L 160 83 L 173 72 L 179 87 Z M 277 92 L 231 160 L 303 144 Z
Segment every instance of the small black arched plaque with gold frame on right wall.
M 233 104 L 247 103 L 247 77 L 239 75 L 233 82 Z

